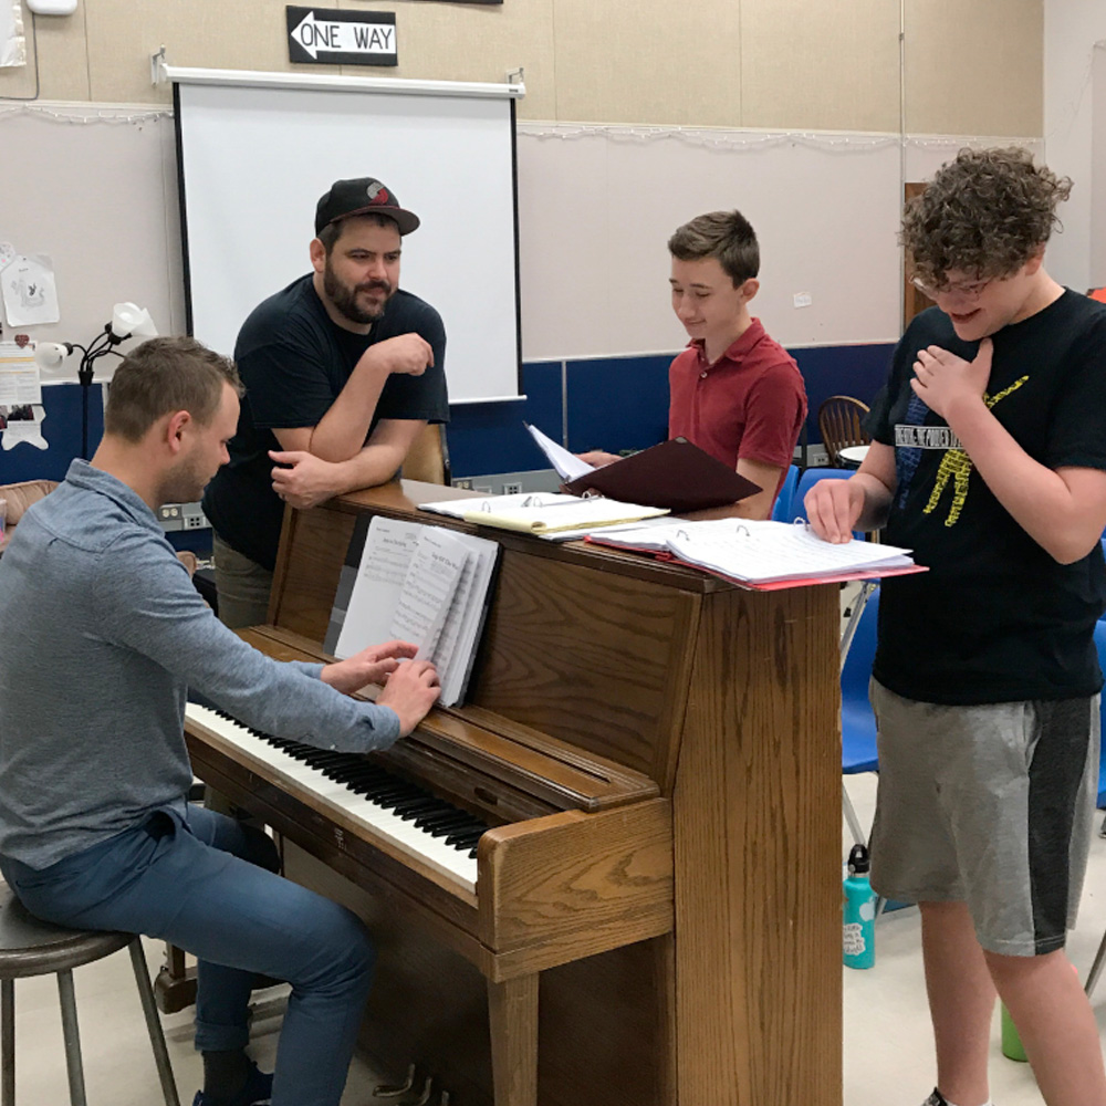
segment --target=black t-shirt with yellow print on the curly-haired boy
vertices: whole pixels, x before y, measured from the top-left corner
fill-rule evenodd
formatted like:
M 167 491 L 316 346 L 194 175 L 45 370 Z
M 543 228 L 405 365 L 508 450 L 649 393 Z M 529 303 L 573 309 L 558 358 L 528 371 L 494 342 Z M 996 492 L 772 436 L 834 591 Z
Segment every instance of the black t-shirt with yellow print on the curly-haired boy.
M 1106 306 L 1075 292 L 993 336 L 991 411 L 1051 469 L 1106 469 Z M 884 581 L 874 675 L 922 702 L 968 705 L 1094 695 L 1095 620 L 1106 608 L 1099 543 L 1054 561 L 991 493 L 943 419 L 910 388 L 919 349 L 972 359 L 937 307 L 895 351 L 868 418 L 895 447 L 898 486 L 885 530 L 929 572 Z

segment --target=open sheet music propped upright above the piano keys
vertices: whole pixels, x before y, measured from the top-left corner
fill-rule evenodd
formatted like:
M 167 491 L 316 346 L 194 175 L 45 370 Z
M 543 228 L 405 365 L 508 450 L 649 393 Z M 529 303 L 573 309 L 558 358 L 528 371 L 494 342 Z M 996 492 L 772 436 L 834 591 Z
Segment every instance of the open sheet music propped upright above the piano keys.
M 499 546 L 441 526 L 358 520 L 325 646 L 348 657 L 399 638 L 432 660 L 447 707 L 461 700 L 483 626 Z

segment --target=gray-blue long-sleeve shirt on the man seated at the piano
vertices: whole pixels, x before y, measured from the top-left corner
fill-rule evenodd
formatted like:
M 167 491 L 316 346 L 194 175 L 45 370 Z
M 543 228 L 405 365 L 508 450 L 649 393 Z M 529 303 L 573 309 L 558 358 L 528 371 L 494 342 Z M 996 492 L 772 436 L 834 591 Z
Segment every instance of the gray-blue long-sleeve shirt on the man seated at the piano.
M 200 598 L 153 511 L 84 461 L 23 517 L 0 559 L 0 855 L 44 868 L 182 812 L 186 689 L 248 726 L 362 752 L 388 707 L 246 645 Z

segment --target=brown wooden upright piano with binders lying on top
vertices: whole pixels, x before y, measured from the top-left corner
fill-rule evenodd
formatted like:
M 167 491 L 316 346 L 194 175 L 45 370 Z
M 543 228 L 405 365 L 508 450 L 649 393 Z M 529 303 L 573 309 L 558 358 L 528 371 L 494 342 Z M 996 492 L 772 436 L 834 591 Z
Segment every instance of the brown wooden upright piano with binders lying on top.
M 271 625 L 244 636 L 324 656 L 356 515 L 474 530 L 417 510 L 450 491 L 289 511 Z M 839 1106 L 836 587 L 480 533 L 501 557 L 467 705 L 372 758 L 486 824 L 474 857 L 187 724 L 286 874 L 373 930 L 362 1044 L 451 1106 Z

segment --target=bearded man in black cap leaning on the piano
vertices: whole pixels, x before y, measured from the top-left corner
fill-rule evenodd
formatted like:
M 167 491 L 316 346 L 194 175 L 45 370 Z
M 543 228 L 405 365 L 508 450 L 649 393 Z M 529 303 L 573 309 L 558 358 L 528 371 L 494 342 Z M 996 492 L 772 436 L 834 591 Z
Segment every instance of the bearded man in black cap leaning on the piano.
M 313 271 L 242 325 L 238 432 L 204 495 L 228 626 L 265 620 L 285 502 L 390 480 L 422 427 L 449 418 L 441 316 L 398 288 L 418 226 L 375 177 L 336 180 L 315 208 Z

